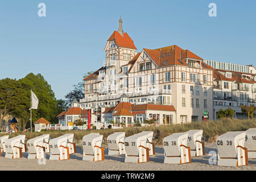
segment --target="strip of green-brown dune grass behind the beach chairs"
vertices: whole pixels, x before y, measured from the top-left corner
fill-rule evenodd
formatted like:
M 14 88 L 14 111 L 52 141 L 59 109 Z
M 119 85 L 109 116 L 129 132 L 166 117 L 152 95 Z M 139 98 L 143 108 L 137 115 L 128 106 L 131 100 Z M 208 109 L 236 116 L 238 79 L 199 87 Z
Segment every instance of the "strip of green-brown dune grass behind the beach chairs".
M 141 131 L 154 131 L 154 142 L 158 145 L 163 144 L 163 138 L 173 133 L 185 132 L 188 130 L 204 130 L 204 142 L 215 142 L 219 135 L 222 135 L 228 131 L 245 131 L 249 128 L 256 127 L 256 119 L 220 119 L 217 121 L 207 122 L 192 122 L 187 124 L 177 125 L 161 125 L 161 126 L 146 126 L 146 127 L 127 127 L 123 129 L 104 129 L 104 130 L 86 130 L 86 131 L 73 131 L 73 130 L 49 130 L 42 132 L 32 133 L 15 133 L 10 134 L 10 138 L 13 138 L 20 134 L 25 134 L 27 139 L 38 137 L 43 134 L 50 134 L 51 138 L 56 138 L 67 133 L 74 133 L 76 140 L 81 140 L 84 135 L 89 133 L 100 133 L 104 135 L 104 140 L 108 135 L 113 134 L 115 131 L 125 131 L 126 137 L 140 133 Z M 0 136 L 6 134 L 0 134 Z

